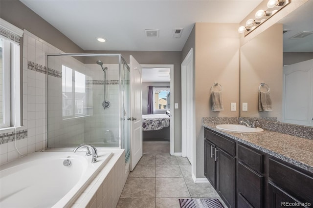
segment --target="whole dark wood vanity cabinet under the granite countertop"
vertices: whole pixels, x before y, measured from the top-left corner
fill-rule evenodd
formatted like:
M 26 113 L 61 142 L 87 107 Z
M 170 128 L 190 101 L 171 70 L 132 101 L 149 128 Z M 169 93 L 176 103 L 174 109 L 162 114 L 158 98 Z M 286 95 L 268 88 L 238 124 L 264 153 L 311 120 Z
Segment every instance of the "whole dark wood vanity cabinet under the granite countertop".
M 313 173 L 204 129 L 204 175 L 228 208 L 313 208 Z

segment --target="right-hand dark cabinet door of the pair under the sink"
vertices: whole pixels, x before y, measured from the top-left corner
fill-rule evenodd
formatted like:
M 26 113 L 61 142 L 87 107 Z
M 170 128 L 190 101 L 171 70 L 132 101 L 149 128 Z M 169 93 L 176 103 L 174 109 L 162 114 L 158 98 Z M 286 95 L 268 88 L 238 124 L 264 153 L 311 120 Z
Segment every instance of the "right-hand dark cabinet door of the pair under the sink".
M 236 160 L 217 146 L 217 191 L 228 208 L 235 207 Z

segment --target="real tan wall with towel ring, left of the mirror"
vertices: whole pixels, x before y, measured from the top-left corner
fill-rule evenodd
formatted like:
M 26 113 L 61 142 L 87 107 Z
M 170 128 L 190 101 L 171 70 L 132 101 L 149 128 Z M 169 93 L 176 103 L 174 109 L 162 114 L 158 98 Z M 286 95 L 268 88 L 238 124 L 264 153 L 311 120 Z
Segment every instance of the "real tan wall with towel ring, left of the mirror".
M 196 23 L 195 99 L 196 99 L 196 177 L 204 177 L 204 136 L 202 117 L 239 116 L 239 24 Z M 212 111 L 210 88 L 223 86 L 224 111 Z M 230 111 L 230 103 L 237 111 Z

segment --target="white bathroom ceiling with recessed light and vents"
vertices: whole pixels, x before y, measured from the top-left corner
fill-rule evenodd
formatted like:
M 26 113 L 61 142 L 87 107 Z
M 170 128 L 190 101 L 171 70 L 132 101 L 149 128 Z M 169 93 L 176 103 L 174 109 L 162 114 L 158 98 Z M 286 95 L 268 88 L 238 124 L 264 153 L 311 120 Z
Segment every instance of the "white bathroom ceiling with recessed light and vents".
M 195 22 L 239 23 L 262 0 L 21 1 L 84 50 L 181 51 Z M 180 39 L 174 28 L 184 29 Z M 159 29 L 159 38 L 145 29 Z

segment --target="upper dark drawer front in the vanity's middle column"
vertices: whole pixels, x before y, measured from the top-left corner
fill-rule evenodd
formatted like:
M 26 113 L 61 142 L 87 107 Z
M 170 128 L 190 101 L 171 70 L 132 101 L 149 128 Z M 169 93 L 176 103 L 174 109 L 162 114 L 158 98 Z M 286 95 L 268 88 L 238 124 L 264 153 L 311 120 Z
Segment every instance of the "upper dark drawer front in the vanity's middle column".
M 264 154 L 238 144 L 238 159 L 253 170 L 264 173 Z

